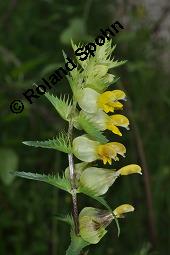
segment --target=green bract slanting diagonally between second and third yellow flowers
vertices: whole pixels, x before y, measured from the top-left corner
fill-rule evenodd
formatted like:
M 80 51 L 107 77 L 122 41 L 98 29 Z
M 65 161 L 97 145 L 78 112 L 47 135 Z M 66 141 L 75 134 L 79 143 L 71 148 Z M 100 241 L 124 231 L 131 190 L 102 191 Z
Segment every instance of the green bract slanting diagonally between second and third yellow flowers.
M 100 143 L 107 143 L 108 139 L 103 135 L 103 133 L 92 123 L 92 121 L 80 112 L 77 121 L 82 129 L 86 131 L 92 139 L 97 140 Z

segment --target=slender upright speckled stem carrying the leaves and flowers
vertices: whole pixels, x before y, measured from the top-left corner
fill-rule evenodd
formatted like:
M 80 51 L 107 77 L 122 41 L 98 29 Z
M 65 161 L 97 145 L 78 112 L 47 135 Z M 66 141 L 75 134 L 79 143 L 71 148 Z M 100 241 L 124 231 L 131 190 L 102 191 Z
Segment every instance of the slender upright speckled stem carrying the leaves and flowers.
M 73 123 L 72 123 L 72 120 L 70 120 L 69 128 L 68 128 L 68 137 L 70 140 L 72 140 L 72 133 L 73 133 Z M 70 170 L 70 181 L 71 181 L 71 187 L 72 187 L 73 219 L 74 219 L 74 226 L 75 226 L 75 234 L 79 235 L 77 192 L 76 192 L 76 183 L 75 183 L 74 159 L 73 159 L 72 153 L 68 154 L 68 161 L 69 161 L 69 170 Z

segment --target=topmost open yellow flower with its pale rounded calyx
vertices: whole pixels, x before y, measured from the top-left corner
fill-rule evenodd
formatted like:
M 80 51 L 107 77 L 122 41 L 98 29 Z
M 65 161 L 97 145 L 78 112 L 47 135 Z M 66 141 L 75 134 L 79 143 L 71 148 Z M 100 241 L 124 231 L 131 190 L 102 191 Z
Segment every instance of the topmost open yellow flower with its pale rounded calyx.
M 87 113 L 96 113 L 99 109 L 106 113 L 121 110 L 123 105 L 119 100 L 125 99 L 126 95 L 122 90 L 106 91 L 100 94 L 94 89 L 84 88 L 77 94 L 79 106 Z

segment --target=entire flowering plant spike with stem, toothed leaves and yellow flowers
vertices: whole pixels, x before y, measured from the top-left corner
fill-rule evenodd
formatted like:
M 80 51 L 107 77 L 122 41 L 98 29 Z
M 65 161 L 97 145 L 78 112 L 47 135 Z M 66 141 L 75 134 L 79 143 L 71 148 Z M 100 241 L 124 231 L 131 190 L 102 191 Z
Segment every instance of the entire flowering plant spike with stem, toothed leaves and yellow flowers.
M 72 46 L 74 50 L 78 48 L 74 44 Z M 114 49 L 115 46 L 112 47 L 111 40 L 108 40 L 104 45 L 96 47 L 94 57 L 88 57 L 84 61 L 77 59 L 79 68 L 76 67 L 68 76 L 73 92 L 72 100 L 46 93 L 46 97 L 60 116 L 69 122 L 68 135 L 61 133 L 58 138 L 48 141 L 24 142 L 26 145 L 68 153 L 69 167 L 63 177 L 26 172 L 18 172 L 18 176 L 47 182 L 69 192 L 73 197 L 73 204 L 76 194 L 84 193 L 105 206 L 105 210 L 85 207 L 79 215 L 77 214 L 77 224 L 72 224 L 69 217 L 64 219 L 72 226 L 72 242 L 67 255 L 79 254 L 83 247 L 98 243 L 113 219 L 117 223 L 117 219 L 124 217 L 125 213 L 134 211 L 134 207 L 129 204 L 110 209 L 102 197 L 121 176 L 141 174 L 141 168 L 136 164 L 123 166 L 118 170 L 114 167 L 114 161 L 126 155 L 126 147 L 114 138 L 121 137 L 123 129 L 129 129 L 128 118 L 121 114 L 126 94 L 120 89 L 108 89 L 109 85 L 117 81 L 109 70 L 125 62 L 114 61 L 111 57 Z M 83 131 L 74 139 L 73 127 Z M 112 141 L 104 135 L 105 130 L 113 132 Z M 73 155 L 81 162 L 74 164 Z M 103 163 L 103 167 L 97 167 L 98 161 Z M 109 168 L 107 164 L 110 165 Z

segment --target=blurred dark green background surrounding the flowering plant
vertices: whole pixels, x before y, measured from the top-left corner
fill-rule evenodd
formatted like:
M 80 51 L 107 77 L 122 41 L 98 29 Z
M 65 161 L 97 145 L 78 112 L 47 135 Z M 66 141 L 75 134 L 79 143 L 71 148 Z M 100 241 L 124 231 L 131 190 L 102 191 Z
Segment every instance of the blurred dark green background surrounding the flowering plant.
M 64 64 L 62 50 L 73 55 L 70 39 L 90 42 L 118 20 L 124 30 L 114 37 L 115 58 L 128 63 L 113 70 L 127 92 L 130 132 L 120 166 L 138 163 L 144 174 L 120 178 L 107 193 L 113 207 L 132 203 L 136 211 L 115 224 L 89 254 L 170 254 L 170 34 L 169 1 L 37 0 L 0 2 L 0 254 L 62 255 L 69 228 L 56 213 L 68 213 L 70 197 L 43 183 L 13 178 L 9 171 L 62 172 L 66 155 L 29 148 L 23 140 L 51 138 L 66 129 L 43 97 L 25 101 L 22 114 L 9 104 L 41 77 Z M 169 22 L 170 23 L 170 22 Z M 114 87 L 114 86 L 113 86 Z M 70 93 L 66 79 L 54 94 Z M 99 204 L 79 197 L 79 209 Z M 169 251 L 169 252 L 168 252 Z

